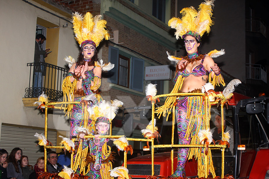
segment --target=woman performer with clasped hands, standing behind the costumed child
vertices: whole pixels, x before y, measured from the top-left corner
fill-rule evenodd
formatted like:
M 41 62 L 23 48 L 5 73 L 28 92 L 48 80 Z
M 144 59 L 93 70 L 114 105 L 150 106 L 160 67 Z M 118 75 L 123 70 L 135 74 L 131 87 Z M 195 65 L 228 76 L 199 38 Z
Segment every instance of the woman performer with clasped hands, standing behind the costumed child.
M 92 124 L 91 118 L 88 118 L 87 108 L 97 104 L 102 98 L 99 94 L 96 94 L 88 101 L 85 96 L 97 92 L 101 85 L 102 70 L 111 70 L 114 67 L 112 64 L 104 65 L 103 60 L 98 61 L 97 58 L 96 47 L 103 38 L 106 40 L 109 38 L 108 31 L 105 30 L 106 21 L 101 17 L 101 15 L 93 17 L 89 12 L 84 16 L 79 13 L 73 14 L 72 23 L 75 39 L 80 44 L 80 52 L 77 61 L 71 56 L 65 58 L 69 62 L 70 70 L 62 84 L 63 101 L 81 102 L 80 104 L 68 104 L 67 106 L 66 115 L 71 119 L 71 137 L 77 137 L 78 132 L 80 132 L 79 128 L 87 129 L 90 132 L 94 131 L 94 124 Z M 81 161 L 80 165 L 82 166 L 77 166 L 77 172 L 81 173 L 80 168 L 84 167 L 82 159 L 87 155 L 88 145 L 85 141 L 76 144 L 82 147 L 75 155 L 75 157 L 80 156 L 77 160 Z

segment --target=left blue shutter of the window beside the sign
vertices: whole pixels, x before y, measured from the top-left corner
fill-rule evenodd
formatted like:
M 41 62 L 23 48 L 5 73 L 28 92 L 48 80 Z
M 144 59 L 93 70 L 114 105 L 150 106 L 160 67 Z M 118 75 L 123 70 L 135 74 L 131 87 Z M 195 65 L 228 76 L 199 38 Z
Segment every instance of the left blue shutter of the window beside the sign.
M 118 67 L 119 67 L 119 49 L 116 47 L 108 47 L 108 61 L 114 64 L 114 68 L 109 70 L 108 82 L 117 84 L 118 83 Z

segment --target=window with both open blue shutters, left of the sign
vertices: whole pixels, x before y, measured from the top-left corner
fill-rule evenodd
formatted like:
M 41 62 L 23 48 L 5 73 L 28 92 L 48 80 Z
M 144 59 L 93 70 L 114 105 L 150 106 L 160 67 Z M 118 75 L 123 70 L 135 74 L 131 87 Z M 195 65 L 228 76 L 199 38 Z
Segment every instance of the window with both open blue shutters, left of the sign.
M 120 55 L 116 47 L 109 46 L 109 62 L 115 67 L 109 71 L 109 82 L 143 92 L 144 88 L 144 60 L 137 57 Z

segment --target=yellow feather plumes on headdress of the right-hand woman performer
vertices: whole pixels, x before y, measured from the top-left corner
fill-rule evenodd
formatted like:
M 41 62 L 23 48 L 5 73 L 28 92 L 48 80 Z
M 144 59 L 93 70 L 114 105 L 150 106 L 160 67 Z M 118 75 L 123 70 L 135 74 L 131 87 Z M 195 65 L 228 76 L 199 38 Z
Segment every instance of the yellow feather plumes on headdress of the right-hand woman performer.
M 171 18 L 168 25 L 176 30 L 176 39 L 184 38 L 184 35 L 188 34 L 200 41 L 205 32 L 210 32 L 210 26 L 213 25 L 211 20 L 213 2 L 214 0 L 205 0 L 199 5 L 198 12 L 194 7 L 185 7 L 180 11 L 181 19 Z

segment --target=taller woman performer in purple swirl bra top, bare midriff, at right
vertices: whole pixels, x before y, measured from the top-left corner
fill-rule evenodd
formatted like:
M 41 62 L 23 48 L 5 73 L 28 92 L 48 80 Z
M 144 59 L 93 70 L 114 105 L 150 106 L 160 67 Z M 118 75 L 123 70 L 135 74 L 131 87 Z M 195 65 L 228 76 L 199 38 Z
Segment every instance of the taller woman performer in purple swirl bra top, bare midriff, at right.
M 173 79 L 175 87 L 171 93 L 201 93 L 201 88 L 207 81 L 211 82 L 214 87 L 219 83 L 225 85 L 218 65 L 210 57 L 223 55 L 224 50 L 215 50 L 208 54 L 199 53 L 201 36 L 205 32 L 209 33 L 210 26 L 213 24 L 211 20 L 212 7 L 213 1 L 206 0 L 200 4 L 198 12 L 193 7 L 183 8 L 180 11 L 181 19 L 172 18 L 169 20 L 168 25 L 176 29 L 176 38 L 184 39 L 187 51 L 187 56 L 182 58 L 176 58 L 168 54 L 169 60 L 178 61 L 175 78 Z M 166 99 L 163 106 L 157 109 L 158 115 L 169 114 L 174 104 L 176 105 L 179 144 L 200 144 L 199 130 L 209 129 L 209 126 L 205 124 L 205 120 L 209 120 L 210 116 L 208 112 L 209 100 L 204 100 L 202 96 L 171 96 Z M 190 151 L 189 148 L 179 148 L 177 168 L 171 177 L 185 177 L 187 158 L 191 159 L 193 156 L 198 158 L 198 176 L 205 176 L 203 151 L 198 148 L 191 148 Z M 214 176 L 210 149 L 209 156 L 208 168 Z

